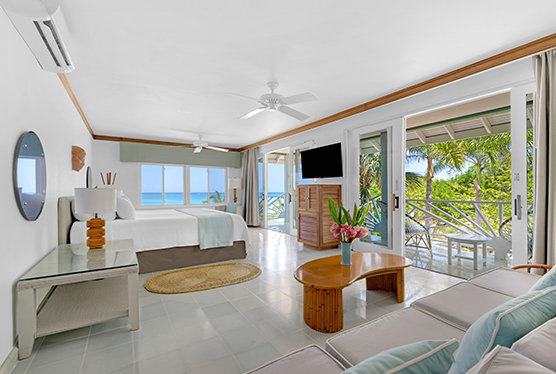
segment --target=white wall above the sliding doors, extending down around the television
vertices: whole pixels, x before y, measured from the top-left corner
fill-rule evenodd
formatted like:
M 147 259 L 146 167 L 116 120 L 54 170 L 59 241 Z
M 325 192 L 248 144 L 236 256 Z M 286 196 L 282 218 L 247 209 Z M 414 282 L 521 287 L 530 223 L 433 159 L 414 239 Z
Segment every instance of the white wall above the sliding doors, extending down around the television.
M 348 152 L 358 152 L 357 149 L 347 149 L 348 130 L 363 125 L 380 123 L 389 119 L 401 119 L 408 115 L 450 105 L 458 101 L 472 99 L 501 90 L 509 90 L 511 87 L 533 80 L 533 64 L 530 58 L 526 58 L 301 134 L 265 144 L 260 147 L 259 154 L 287 148 L 291 145 L 310 140 L 315 141 L 317 147 L 341 141 L 344 177 L 346 177 Z M 351 179 L 353 180 L 353 178 Z M 353 200 L 353 198 L 348 198 L 348 191 L 358 191 L 358 186 L 346 185 L 345 178 L 343 180 L 339 178 L 319 179 L 317 183 L 341 183 L 342 199 L 348 202 Z

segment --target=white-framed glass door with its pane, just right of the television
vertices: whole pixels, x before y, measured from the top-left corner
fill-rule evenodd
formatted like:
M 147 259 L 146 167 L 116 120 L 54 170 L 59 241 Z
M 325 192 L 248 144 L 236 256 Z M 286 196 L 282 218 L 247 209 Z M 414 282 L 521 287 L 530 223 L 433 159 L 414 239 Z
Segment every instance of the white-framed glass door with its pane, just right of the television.
M 404 119 L 351 131 L 348 147 L 348 204 L 370 204 L 369 235 L 355 241 L 361 252 L 403 255 Z

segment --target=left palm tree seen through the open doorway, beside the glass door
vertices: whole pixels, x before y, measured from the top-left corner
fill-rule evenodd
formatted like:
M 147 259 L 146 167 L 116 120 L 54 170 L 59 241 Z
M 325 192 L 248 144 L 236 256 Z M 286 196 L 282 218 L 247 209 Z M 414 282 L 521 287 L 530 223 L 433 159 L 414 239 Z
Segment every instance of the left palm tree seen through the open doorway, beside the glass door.
M 425 144 L 408 148 L 406 151 L 406 160 L 426 161 L 426 190 L 425 200 L 432 200 L 432 180 L 434 175 L 449 170 L 450 172 L 460 171 L 465 162 L 465 154 L 460 142 L 445 142 L 436 144 Z M 425 207 L 427 212 L 431 212 L 431 207 Z M 429 224 L 430 219 L 427 219 Z

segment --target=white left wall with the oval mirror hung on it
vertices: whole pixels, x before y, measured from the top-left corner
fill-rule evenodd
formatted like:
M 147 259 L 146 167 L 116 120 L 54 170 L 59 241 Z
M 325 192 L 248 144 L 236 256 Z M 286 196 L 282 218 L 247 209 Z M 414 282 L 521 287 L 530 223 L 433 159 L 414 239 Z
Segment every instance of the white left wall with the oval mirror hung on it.
M 85 187 L 85 170 L 92 160 L 92 138 L 58 76 L 40 69 L 2 10 L 0 46 L 1 363 L 14 342 L 14 285 L 58 245 L 57 199 L 72 195 L 74 187 Z M 20 214 L 12 184 L 16 143 L 29 130 L 39 135 L 47 166 L 46 203 L 35 222 Z M 71 168 L 72 145 L 87 152 L 85 167 L 80 172 Z

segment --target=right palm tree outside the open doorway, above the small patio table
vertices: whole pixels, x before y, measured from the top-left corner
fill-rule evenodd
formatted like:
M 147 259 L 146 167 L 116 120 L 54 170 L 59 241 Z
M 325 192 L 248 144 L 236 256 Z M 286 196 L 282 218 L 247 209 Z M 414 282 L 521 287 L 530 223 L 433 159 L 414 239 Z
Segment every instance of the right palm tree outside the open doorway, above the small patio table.
M 483 198 L 483 191 L 479 178 L 486 170 L 493 170 L 511 160 L 511 134 L 495 134 L 480 138 L 464 139 L 460 141 L 465 150 L 466 162 L 475 168 L 475 201 Z M 475 222 L 481 225 L 481 204 L 475 204 Z

